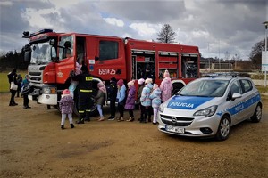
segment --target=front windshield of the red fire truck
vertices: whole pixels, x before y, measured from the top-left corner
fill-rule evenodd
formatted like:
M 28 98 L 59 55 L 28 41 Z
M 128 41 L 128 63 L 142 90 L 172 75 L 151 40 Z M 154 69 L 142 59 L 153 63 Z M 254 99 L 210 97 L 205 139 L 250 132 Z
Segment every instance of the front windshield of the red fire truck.
M 53 49 L 52 49 L 53 48 Z M 55 56 L 54 47 L 49 45 L 49 42 L 32 45 L 31 64 L 46 64 L 51 62 L 51 57 Z

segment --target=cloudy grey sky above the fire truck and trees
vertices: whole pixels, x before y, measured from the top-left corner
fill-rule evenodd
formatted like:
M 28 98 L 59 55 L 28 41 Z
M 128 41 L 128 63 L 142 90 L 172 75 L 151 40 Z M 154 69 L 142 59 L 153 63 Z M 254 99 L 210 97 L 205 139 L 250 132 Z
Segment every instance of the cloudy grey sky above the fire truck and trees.
M 180 44 L 199 46 L 204 57 L 226 53 L 247 60 L 265 37 L 266 0 L 0 0 L 0 52 L 21 51 L 23 31 L 52 28 L 156 40 L 170 24 Z

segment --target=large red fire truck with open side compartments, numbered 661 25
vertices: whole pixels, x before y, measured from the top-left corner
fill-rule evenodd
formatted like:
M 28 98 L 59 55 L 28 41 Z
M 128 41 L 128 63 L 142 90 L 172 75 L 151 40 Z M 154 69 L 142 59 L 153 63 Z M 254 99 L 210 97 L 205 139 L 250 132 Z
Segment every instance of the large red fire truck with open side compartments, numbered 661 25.
M 175 93 L 199 77 L 197 46 L 116 36 L 55 33 L 52 29 L 33 34 L 24 32 L 23 35 L 29 38 L 29 44 L 24 47 L 33 90 L 29 98 L 42 104 L 58 104 L 61 92 L 70 85 L 67 78 L 75 69 L 76 61 L 86 65 L 95 76 L 94 87 L 100 80 L 108 85 L 111 77 L 121 78 L 126 83 L 130 79 L 151 77 L 160 85 L 163 72 L 168 69 Z M 71 57 L 66 57 L 67 51 L 71 52 Z M 96 111 L 96 106 L 92 110 Z

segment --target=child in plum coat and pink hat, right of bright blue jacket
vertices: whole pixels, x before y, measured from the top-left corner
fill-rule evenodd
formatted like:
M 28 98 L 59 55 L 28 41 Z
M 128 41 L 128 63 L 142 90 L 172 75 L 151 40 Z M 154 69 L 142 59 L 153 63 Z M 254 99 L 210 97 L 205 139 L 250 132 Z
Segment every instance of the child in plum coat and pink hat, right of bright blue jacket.
M 128 83 L 128 96 L 125 104 L 125 109 L 129 110 L 130 119 L 128 122 L 134 121 L 133 109 L 135 109 L 135 94 L 136 94 L 136 87 L 134 85 L 134 81 L 130 81 Z

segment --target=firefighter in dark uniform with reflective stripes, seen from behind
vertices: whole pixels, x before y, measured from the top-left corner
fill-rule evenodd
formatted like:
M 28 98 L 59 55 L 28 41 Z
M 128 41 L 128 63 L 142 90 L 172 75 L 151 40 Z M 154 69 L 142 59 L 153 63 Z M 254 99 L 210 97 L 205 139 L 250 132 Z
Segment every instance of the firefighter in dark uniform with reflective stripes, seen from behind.
M 84 124 L 84 120 L 90 121 L 89 112 L 93 105 L 93 101 L 91 100 L 92 95 L 92 79 L 93 77 L 88 72 L 87 66 L 82 66 L 82 73 L 71 77 L 73 80 L 78 81 L 78 95 L 79 95 L 79 114 L 80 120 L 77 124 Z

